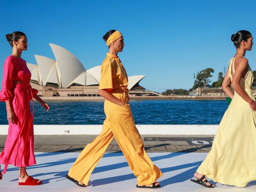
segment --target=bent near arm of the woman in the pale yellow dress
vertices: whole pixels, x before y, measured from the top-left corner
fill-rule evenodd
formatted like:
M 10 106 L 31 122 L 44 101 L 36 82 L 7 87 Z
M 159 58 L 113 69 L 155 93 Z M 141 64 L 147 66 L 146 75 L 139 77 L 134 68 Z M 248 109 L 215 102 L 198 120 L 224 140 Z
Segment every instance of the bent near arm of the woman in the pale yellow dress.
M 233 75 L 231 87 L 234 89 L 234 91 L 243 98 L 246 102 L 249 103 L 250 107 L 256 111 L 256 102 L 252 100 L 249 95 L 242 89 L 242 87 L 239 85 L 239 82 L 242 78 L 243 73 L 245 70 L 248 69 L 248 60 L 245 58 L 241 58 L 239 65 L 237 65 L 236 72 Z

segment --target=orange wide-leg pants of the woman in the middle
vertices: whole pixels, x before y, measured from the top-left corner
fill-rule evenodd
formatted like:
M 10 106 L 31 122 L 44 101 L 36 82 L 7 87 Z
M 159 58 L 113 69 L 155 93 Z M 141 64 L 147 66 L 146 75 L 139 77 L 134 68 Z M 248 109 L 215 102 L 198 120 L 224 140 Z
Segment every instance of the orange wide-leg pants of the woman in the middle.
M 120 91 L 112 94 L 128 103 L 126 92 Z M 132 172 L 137 177 L 137 184 L 149 185 L 156 182 L 162 173 L 152 163 L 144 149 L 143 141 L 132 117 L 130 104 L 120 106 L 105 100 L 104 111 L 106 120 L 100 135 L 83 149 L 68 175 L 88 185 L 91 173 L 115 137 Z

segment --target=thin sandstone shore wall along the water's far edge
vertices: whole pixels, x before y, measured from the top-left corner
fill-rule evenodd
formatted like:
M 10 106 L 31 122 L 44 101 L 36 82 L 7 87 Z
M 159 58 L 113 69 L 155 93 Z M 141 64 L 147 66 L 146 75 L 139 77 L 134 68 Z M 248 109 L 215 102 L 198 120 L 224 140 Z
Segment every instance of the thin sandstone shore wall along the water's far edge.
M 93 97 L 41 97 L 46 101 L 103 101 L 101 96 Z M 215 96 L 131 96 L 130 100 L 226 100 Z

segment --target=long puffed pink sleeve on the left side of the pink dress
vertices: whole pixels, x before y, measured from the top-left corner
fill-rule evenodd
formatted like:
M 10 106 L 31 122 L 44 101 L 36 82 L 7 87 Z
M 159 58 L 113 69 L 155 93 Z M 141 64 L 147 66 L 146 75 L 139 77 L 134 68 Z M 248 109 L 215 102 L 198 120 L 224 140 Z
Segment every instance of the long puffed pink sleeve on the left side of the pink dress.
M 6 102 L 13 98 L 12 87 L 13 87 L 13 63 L 7 60 L 4 63 L 4 74 L 2 82 L 2 90 L 0 92 L 0 101 Z

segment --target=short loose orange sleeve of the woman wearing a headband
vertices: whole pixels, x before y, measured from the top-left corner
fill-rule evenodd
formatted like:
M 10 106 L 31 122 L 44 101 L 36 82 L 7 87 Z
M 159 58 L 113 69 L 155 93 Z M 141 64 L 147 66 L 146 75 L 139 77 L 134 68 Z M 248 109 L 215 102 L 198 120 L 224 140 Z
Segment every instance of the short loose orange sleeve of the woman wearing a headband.
M 99 90 L 113 90 L 112 70 L 113 68 L 111 63 L 105 63 L 101 66 Z

